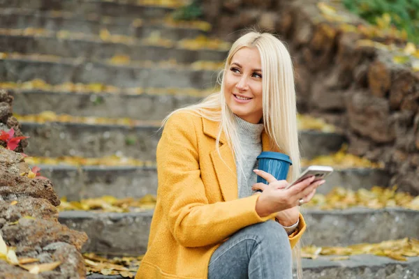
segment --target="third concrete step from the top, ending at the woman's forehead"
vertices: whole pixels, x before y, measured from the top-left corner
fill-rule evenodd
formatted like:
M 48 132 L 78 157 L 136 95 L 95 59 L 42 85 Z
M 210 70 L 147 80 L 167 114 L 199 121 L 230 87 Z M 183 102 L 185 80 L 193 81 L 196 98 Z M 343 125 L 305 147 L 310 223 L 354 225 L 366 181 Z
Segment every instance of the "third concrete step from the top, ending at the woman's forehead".
M 228 50 L 187 50 L 181 47 L 163 47 L 135 43 L 112 43 L 99 38 L 71 39 L 54 36 L 11 36 L 0 34 L 0 52 L 17 52 L 21 54 L 49 54 L 63 57 L 88 57 L 110 59 L 116 55 L 129 56 L 136 61 L 167 61 L 175 59 L 178 63 L 194 61 L 223 61 Z

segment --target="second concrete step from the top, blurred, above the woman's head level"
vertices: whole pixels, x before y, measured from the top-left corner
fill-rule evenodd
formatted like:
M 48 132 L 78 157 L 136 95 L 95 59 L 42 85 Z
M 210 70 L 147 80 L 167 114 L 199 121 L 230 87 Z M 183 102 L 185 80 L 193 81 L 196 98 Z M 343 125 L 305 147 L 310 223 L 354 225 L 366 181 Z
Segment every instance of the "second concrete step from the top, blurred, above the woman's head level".
M 27 9 L 0 8 L 0 26 L 10 29 L 46 29 L 49 31 L 71 31 L 84 34 L 98 35 L 102 29 L 111 34 L 134 36 L 138 38 L 149 37 L 156 32 L 161 38 L 182 40 L 196 38 L 207 32 L 193 27 L 172 27 L 163 20 L 133 20 L 127 17 L 105 17 L 91 14 L 88 17 L 66 13 L 55 15 L 51 12 L 34 11 Z

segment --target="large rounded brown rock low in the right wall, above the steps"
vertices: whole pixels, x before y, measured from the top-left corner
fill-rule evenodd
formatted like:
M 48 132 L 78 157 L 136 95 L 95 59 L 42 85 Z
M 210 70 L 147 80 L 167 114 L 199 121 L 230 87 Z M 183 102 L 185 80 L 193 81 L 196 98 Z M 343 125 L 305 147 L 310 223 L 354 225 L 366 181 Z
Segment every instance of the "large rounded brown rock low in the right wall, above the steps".
M 353 93 L 347 100 L 348 121 L 353 130 L 377 143 L 395 140 L 394 123 L 389 121 L 388 100 L 363 92 Z

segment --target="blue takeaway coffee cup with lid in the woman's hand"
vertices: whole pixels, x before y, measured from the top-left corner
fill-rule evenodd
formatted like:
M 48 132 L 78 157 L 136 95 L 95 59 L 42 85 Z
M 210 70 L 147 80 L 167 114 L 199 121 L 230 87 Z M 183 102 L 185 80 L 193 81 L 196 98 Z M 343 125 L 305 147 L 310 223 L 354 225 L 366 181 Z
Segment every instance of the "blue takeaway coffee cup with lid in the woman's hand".
M 286 179 L 288 169 L 290 168 L 290 165 L 293 165 L 290 156 L 272 151 L 263 151 L 260 153 L 257 160 L 258 169 L 263 170 L 268 174 L 272 174 L 277 180 Z M 267 184 L 265 179 L 258 176 L 258 183 L 260 182 Z

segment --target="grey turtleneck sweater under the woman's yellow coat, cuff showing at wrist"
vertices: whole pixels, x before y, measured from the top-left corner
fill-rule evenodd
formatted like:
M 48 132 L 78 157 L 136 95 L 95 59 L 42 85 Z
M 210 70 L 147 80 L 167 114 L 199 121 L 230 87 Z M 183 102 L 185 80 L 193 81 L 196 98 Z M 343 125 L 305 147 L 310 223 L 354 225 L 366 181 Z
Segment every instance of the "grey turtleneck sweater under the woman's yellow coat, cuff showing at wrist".
M 242 156 L 236 157 L 237 166 L 237 186 L 239 198 L 249 197 L 255 191 L 251 190 L 251 186 L 257 181 L 257 175 L 253 172 L 256 169 L 256 157 L 262 152 L 261 134 L 263 131 L 263 123 L 253 124 L 244 121 L 235 115 L 237 123 L 237 133 L 240 137 L 240 147 Z M 298 221 L 291 227 L 284 227 L 288 234 L 292 234 L 298 226 Z

